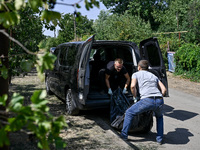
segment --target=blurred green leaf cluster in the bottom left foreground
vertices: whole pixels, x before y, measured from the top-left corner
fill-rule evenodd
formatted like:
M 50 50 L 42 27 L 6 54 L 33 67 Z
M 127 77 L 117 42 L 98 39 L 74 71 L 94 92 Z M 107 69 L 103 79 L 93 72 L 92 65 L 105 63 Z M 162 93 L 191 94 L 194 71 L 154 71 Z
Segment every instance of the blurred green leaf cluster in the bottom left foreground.
M 23 106 L 24 97 L 14 93 L 12 100 L 8 104 L 6 112 L 13 117 L 8 118 L 8 122 L 0 129 L 0 147 L 4 144 L 9 145 L 9 132 L 28 130 L 36 135 L 38 147 L 50 149 L 49 143 L 56 148 L 63 148 L 66 144 L 59 137 L 60 130 L 66 127 L 63 116 L 55 118 L 49 113 L 48 101 L 45 100 L 46 91 L 35 91 L 31 97 L 31 104 Z M 0 105 L 6 106 L 7 96 L 0 97 Z

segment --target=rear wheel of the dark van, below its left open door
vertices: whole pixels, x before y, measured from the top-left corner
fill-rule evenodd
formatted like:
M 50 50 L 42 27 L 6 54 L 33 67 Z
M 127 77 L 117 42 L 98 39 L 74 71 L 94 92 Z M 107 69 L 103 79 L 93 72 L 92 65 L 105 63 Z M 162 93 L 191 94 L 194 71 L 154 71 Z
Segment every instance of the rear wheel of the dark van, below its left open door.
M 72 93 L 71 89 L 67 90 L 66 99 L 65 100 L 66 100 L 66 111 L 67 111 L 67 114 L 69 114 L 69 115 L 78 115 L 79 109 L 76 108 L 75 100 L 74 100 L 74 94 Z

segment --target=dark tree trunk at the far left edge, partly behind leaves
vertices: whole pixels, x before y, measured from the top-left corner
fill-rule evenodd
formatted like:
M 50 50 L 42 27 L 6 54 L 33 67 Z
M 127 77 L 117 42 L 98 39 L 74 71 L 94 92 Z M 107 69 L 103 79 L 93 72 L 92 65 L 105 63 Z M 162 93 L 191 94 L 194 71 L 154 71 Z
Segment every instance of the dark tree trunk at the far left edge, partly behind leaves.
M 5 30 L 1 25 L 0 25 L 0 30 Z M 3 34 L 0 33 L 0 68 L 5 66 L 8 69 L 8 49 L 9 49 L 9 39 Z M 1 75 L 1 71 L 0 71 Z M 0 76 L 0 96 L 3 96 L 4 94 L 8 95 L 8 78 L 4 79 L 3 77 Z M 8 101 L 7 101 L 8 102 Z M 0 110 L 4 111 L 5 107 L 0 106 Z M 8 116 L 5 115 L 7 118 Z M 2 127 L 2 124 L 0 124 L 0 128 Z M 8 150 L 8 146 L 3 146 L 0 147 L 0 150 Z

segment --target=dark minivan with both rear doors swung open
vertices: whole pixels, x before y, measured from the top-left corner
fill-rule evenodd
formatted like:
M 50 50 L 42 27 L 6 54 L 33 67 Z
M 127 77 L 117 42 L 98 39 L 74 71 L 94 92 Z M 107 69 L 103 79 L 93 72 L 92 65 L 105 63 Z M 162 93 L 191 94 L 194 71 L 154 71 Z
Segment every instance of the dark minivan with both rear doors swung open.
M 93 58 L 97 53 L 100 54 L 98 61 Z M 45 73 L 46 90 L 66 102 L 70 115 L 78 114 L 79 110 L 110 106 L 110 96 L 107 92 L 100 92 L 99 70 L 115 58 L 124 60 L 130 77 L 137 71 L 139 60 L 148 60 L 149 70 L 168 89 L 165 65 L 156 38 L 142 41 L 138 48 L 135 43 L 127 41 L 95 41 L 93 35 L 86 41 L 60 44 L 54 54 L 57 56 L 54 69 Z M 126 97 L 132 100 L 128 89 Z

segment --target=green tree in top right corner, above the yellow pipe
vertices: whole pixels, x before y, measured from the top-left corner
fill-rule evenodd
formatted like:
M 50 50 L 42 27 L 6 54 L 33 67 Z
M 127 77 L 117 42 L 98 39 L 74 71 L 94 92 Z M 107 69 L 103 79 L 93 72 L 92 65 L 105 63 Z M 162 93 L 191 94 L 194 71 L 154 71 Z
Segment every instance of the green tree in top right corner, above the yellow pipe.
M 172 0 L 165 11 L 153 12 L 155 20 L 160 23 L 158 32 L 188 31 L 181 34 L 181 39 L 199 43 L 199 10 L 199 0 Z M 179 35 L 176 36 L 178 38 Z

